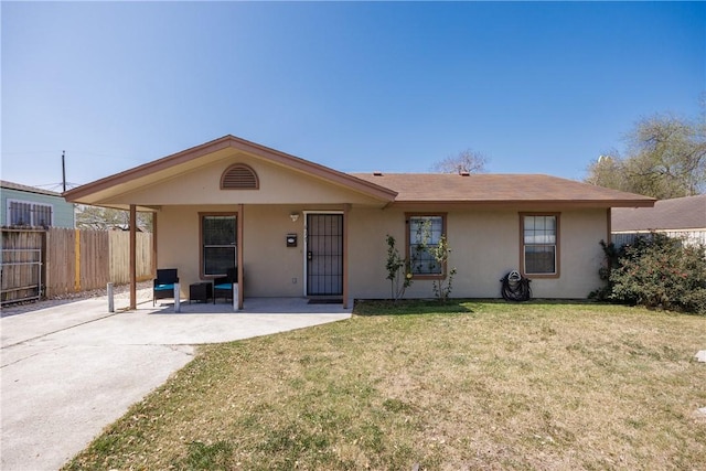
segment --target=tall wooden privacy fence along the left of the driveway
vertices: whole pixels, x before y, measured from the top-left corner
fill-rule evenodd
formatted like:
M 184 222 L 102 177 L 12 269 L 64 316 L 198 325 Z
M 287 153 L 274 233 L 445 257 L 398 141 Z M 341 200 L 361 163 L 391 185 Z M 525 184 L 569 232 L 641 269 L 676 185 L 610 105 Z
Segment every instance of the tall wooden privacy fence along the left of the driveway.
M 136 242 L 137 279 L 151 279 L 152 234 L 137 233 Z M 129 254 L 128 232 L 3 228 L 2 303 L 127 283 Z

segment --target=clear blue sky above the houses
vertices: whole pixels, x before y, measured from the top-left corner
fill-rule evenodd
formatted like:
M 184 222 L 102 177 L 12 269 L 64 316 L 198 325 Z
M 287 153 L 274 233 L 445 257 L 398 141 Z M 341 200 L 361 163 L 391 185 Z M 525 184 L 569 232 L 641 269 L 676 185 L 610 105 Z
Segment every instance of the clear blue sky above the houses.
M 700 116 L 706 3 L 9 2 L 2 180 L 61 191 L 237 136 L 343 172 L 573 180 Z

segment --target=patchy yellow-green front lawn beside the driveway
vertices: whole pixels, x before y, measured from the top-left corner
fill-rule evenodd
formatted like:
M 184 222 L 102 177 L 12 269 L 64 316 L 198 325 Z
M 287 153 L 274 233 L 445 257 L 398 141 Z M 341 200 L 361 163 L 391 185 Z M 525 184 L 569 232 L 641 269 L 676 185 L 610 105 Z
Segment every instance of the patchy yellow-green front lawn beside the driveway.
M 706 317 L 356 312 L 377 315 L 200 347 L 65 468 L 706 469 Z

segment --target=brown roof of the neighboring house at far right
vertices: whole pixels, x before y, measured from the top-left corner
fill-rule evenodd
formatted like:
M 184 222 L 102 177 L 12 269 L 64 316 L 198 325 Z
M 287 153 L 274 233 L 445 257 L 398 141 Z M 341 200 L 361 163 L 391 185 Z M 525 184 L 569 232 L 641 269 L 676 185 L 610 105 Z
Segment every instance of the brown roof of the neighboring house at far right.
M 706 194 L 661 200 L 654 207 L 616 208 L 611 220 L 613 232 L 706 228 Z

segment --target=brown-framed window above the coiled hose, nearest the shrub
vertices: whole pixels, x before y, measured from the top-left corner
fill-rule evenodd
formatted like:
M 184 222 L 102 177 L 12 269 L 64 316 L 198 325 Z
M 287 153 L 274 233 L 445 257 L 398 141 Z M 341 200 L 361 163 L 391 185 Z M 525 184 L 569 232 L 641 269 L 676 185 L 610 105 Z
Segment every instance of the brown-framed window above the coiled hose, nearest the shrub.
M 524 274 L 558 276 L 558 214 L 522 214 L 520 218 Z

